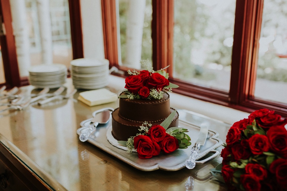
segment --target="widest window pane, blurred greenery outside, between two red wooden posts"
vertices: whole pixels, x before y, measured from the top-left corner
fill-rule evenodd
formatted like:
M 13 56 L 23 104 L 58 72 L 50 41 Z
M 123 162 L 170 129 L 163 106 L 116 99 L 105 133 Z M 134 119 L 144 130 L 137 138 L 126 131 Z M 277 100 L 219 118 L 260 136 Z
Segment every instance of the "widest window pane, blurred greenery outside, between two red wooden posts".
M 174 1 L 174 78 L 229 91 L 235 2 Z

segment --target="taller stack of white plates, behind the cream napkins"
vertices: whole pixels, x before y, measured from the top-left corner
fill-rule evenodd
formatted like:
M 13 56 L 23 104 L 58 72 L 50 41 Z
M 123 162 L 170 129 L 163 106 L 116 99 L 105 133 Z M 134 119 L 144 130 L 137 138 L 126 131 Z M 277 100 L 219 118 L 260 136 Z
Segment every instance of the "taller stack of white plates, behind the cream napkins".
M 78 89 L 98 89 L 108 85 L 109 60 L 79 58 L 71 61 L 73 85 Z

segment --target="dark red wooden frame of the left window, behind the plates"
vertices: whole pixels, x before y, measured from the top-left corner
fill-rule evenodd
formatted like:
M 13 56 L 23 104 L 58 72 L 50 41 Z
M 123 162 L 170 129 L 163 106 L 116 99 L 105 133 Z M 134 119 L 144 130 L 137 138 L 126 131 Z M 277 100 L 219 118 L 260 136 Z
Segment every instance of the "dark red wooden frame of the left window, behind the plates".
M 83 58 L 84 53 L 80 0 L 68 0 L 68 3 L 71 23 L 73 59 Z M 5 75 L 5 83 L 0 85 L 6 85 L 7 88 L 28 85 L 28 76 L 20 77 L 19 73 L 9 0 L 0 0 L 0 16 L 1 23 L 5 24 L 6 31 L 5 34 L 0 33 L 0 44 Z

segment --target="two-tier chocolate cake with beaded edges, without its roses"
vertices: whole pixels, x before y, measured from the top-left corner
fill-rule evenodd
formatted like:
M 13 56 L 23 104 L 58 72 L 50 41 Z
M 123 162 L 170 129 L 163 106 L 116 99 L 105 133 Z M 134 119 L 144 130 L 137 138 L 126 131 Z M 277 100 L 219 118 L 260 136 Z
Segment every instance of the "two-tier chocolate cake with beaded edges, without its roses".
M 119 141 L 127 141 L 139 133 L 138 129 L 145 121 L 152 125 L 161 124 L 172 111 L 168 93 L 164 93 L 161 99 L 120 98 L 119 108 L 112 113 L 112 135 Z M 169 127 L 178 127 L 178 113 Z

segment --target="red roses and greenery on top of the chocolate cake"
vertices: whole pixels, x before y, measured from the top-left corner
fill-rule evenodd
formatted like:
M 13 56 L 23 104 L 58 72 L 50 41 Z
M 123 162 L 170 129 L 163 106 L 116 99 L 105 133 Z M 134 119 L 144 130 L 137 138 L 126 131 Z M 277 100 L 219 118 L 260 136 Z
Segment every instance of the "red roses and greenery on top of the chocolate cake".
M 142 71 L 130 71 L 131 75 L 126 78 L 125 91 L 119 98 L 129 99 L 161 99 L 167 91 L 172 91 L 172 88 L 177 88 L 178 85 L 170 83 L 168 73 L 163 68 L 154 71 L 148 60 L 142 60 L 141 64 L 146 67 Z

